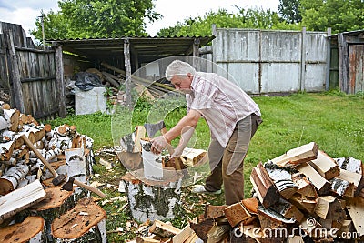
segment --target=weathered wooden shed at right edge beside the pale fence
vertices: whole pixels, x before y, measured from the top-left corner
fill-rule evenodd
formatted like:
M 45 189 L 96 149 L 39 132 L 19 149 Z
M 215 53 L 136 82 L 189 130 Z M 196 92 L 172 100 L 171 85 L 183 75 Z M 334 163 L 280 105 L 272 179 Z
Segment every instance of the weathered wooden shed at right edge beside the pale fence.
M 330 84 L 347 94 L 364 92 L 364 30 L 330 35 Z

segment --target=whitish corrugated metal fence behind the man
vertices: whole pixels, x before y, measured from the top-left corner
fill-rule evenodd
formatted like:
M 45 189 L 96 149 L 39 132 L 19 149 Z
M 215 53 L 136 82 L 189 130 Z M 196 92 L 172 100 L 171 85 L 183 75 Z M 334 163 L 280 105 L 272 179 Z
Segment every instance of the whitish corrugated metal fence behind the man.
M 250 94 L 316 92 L 328 86 L 327 33 L 216 29 L 213 34 L 212 60 L 222 68 L 212 71 Z

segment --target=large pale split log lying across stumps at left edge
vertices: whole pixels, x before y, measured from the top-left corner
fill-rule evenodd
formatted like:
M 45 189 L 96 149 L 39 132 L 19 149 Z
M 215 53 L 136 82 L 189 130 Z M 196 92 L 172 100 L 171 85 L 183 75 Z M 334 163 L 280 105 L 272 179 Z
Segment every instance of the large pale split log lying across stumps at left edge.
M 16 189 L 0 198 L 0 223 L 6 218 L 14 216 L 17 212 L 35 205 L 45 198 L 45 190 L 39 182 Z

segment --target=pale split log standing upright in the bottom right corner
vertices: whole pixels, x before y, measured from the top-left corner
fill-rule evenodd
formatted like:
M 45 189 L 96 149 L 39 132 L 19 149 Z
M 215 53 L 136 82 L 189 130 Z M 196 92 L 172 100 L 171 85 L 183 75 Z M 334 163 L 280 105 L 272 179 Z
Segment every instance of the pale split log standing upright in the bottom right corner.
M 354 224 L 356 231 L 359 236 L 364 236 L 364 198 L 362 197 L 351 197 L 347 199 L 347 207 L 349 216 Z

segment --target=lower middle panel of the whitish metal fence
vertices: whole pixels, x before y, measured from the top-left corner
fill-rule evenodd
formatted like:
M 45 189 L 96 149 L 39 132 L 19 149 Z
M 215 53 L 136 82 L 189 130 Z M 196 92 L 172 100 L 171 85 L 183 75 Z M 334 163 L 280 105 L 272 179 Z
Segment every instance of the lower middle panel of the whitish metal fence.
M 262 64 L 261 93 L 296 92 L 299 84 L 299 64 Z

